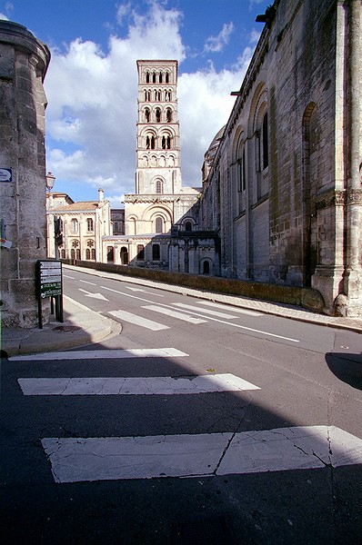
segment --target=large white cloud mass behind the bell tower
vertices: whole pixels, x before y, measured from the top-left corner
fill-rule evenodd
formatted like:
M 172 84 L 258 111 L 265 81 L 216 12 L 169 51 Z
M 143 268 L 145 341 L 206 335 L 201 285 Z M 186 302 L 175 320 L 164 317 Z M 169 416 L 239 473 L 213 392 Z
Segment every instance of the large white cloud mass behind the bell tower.
M 130 12 L 128 34 L 111 36 L 108 50 L 76 39 L 64 52 L 52 51 L 45 77 L 47 170 L 62 180 L 105 189 L 106 198 L 119 207 L 124 193 L 135 191 L 137 59 L 186 58 L 179 28 L 182 15 L 151 2 L 146 15 Z M 230 29 L 225 32 L 225 39 Z M 251 50 L 229 70 L 181 74 L 178 104 L 184 185 L 201 183 L 204 153 L 226 124 L 240 87 Z M 72 195 L 70 195 L 72 196 Z M 93 197 L 90 197 L 93 198 Z

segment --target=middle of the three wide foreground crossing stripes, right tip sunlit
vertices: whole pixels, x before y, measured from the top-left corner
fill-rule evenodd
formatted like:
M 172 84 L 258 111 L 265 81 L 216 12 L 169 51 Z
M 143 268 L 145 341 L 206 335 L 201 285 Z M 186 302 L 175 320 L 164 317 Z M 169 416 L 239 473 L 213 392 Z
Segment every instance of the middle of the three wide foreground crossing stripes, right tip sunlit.
M 24 395 L 172 395 L 260 390 L 231 373 L 192 377 L 22 378 Z

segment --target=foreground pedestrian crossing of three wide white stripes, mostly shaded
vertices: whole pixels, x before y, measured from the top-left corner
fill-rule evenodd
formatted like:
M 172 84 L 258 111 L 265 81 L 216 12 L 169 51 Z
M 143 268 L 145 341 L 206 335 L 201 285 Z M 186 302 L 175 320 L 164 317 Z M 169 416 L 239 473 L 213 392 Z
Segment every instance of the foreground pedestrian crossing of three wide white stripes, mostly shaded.
M 85 358 L 89 362 L 100 359 L 105 361 L 108 358 L 111 361 L 118 359 L 119 362 L 150 358 L 151 362 L 155 357 L 171 362 L 172 358 L 189 358 L 186 352 L 171 347 L 55 352 L 16 356 L 10 360 L 39 362 L 42 355 L 44 361 L 67 362 L 72 359 L 73 372 L 77 361 Z M 144 364 L 145 369 L 150 369 L 146 360 Z M 105 396 L 105 402 L 109 396 L 146 396 L 148 400 L 152 399 L 151 396 L 165 396 L 172 403 L 180 395 L 194 396 L 195 399 L 196 395 L 242 395 L 244 391 L 247 395 L 254 392 L 257 402 L 258 392 L 261 391 L 256 384 L 232 373 L 176 377 L 23 376 L 17 381 L 24 396 L 47 396 L 47 403 L 59 396 Z M 191 397 L 186 399 L 191 410 Z M 89 406 L 89 398 L 87 403 Z M 147 402 L 146 406 L 149 410 L 150 403 Z M 164 418 L 162 412 L 157 418 Z M 195 420 L 198 420 L 197 413 Z M 198 425 L 202 427 L 202 422 Z M 212 478 L 219 475 L 362 464 L 362 440 L 347 431 L 327 425 L 256 431 L 237 431 L 236 425 L 235 431 L 125 437 L 105 437 L 102 429 L 99 429 L 96 437 L 39 437 L 39 441 L 57 483 L 166 477 Z

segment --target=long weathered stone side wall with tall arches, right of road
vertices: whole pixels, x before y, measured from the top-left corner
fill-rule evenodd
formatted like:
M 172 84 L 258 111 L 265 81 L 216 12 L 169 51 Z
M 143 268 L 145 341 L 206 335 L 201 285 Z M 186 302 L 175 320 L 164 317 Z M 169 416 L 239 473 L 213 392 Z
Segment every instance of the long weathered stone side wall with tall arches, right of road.
M 206 154 L 199 226 L 221 275 L 311 286 L 362 313 L 360 0 L 277 0 Z

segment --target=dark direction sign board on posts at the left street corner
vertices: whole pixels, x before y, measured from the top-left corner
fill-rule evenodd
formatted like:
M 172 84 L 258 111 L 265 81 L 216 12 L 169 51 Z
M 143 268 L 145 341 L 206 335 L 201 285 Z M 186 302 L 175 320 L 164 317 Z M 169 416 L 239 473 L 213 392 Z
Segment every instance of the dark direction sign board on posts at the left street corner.
M 36 262 L 36 292 L 38 299 L 39 329 L 43 329 L 42 300 L 55 298 L 55 319 L 63 322 L 62 262 L 54 259 Z

